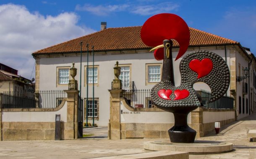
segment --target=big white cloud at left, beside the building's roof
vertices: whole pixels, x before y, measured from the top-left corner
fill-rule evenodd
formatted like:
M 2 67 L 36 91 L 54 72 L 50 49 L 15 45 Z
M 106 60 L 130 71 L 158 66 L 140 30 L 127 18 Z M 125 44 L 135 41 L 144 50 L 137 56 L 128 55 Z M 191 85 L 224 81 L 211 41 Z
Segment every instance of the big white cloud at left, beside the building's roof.
M 78 20 L 75 13 L 65 12 L 45 17 L 29 12 L 25 6 L 0 5 L 0 63 L 30 78 L 34 67 L 31 53 L 95 32 L 86 26 L 78 26 Z

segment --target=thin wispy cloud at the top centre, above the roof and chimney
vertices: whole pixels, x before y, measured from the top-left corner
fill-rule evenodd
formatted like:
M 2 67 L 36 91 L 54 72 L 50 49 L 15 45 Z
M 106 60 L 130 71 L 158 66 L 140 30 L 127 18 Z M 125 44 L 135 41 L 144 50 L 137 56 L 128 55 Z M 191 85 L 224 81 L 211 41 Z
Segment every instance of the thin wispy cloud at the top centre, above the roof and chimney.
M 107 16 L 110 13 L 128 11 L 138 15 L 154 15 L 157 13 L 167 13 L 172 10 L 177 10 L 178 4 L 175 3 L 159 3 L 155 5 L 134 5 L 134 4 L 122 4 L 122 5 L 91 5 L 85 4 L 84 6 L 76 5 L 76 10 L 87 11 L 94 15 Z

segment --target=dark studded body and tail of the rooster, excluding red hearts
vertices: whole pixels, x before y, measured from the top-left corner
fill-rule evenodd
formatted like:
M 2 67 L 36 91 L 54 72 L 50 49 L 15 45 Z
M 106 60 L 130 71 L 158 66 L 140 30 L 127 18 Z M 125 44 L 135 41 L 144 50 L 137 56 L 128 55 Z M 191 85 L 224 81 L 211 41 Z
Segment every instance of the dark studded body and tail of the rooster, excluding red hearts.
M 192 71 L 189 67 L 190 62 L 194 59 L 198 59 L 200 61 L 203 59 L 210 59 L 213 64 L 213 68 L 209 74 L 198 78 L 198 74 Z M 165 58 L 164 61 L 165 60 L 169 59 Z M 163 69 L 166 67 L 171 66 L 163 66 Z M 172 74 L 172 72 L 165 72 L 163 70 L 162 74 L 165 73 Z M 157 105 L 157 107 L 166 110 L 166 107 L 200 106 L 201 103 L 196 95 L 196 91 L 193 89 L 193 84 L 196 82 L 205 82 L 207 85 L 209 85 L 212 91 L 212 97 L 208 102 L 211 103 L 218 100 L 227 92 L 230 83 L 230 72 L 226 62 L 221 56 L 210 51 L 193 51 L 184 56 L 180 62 L 180 75 L 181 83 L 179 87 L 175 87 L 170 80 L 164 78 L 152 88 L 152 101 L 155 105 Z M 161 89 L 172 90 L 170 100 L 159 97 L 158 92 Z M 176 96 L 173 92 L 175 90 L 188 90 L 189 95 L 184 99 L 174 100 Z

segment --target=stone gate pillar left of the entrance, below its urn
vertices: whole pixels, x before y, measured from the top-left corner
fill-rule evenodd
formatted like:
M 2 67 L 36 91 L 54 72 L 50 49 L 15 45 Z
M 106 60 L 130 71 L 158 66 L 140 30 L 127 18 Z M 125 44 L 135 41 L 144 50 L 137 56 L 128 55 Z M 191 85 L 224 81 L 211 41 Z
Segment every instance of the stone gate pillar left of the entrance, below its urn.
M 67 94 L 67 122 L 64 123 L 64 139 L 78 138 L 78 90 L 64 90 Z

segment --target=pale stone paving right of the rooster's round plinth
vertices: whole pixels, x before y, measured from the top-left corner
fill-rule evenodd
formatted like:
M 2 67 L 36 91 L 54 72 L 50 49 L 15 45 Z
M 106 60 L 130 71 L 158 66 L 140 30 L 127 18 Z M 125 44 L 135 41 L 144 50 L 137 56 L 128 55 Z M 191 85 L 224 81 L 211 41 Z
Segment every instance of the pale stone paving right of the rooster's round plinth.
M 223 126 L 219 134 L 210 133 L 198 140 L 233 143 L 234 151 L 223 154 L 189 155 L 189 159 L 256 159 L 256 142 L 250 142 L 247 131 L 256 129 L 256 113 Z

